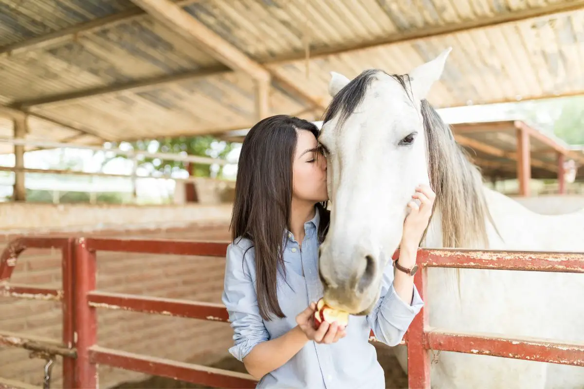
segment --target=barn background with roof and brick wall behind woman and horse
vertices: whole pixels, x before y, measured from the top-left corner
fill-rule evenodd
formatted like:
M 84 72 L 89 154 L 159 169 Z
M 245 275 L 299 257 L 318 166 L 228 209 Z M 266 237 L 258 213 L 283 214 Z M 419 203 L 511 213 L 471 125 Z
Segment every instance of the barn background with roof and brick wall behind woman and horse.
M 405 73 L 448 46 L 429 101 L 486 185 L 537 212 L 582 209 L 583 8 L 577 0 L 0 0 L 4 242 L 65 232 L 226 240 L 246 129 L 278 113 L 319 121 L 329 71 Z M 219 302 L 223 269 L 221 258 L 107 253 L 98 286 Z M 11 282 L 58 287 L 60 254 L 27 250 Z M 60 304 L 0 298 L 0 331 L 60 337 Z M 227 354 L 228 325 L 125 311 L 99 320 L 106 346 L 241 370 Z M 391 363 L 387 372 L 397 371 Z M 0 349 L 0 377 L 39 385 L 43 366 L 23 349 Z M 54 368 L 53 386 L 60 374 Z M 100 377 L 105 387 L 147 379 L 109 367 Z

